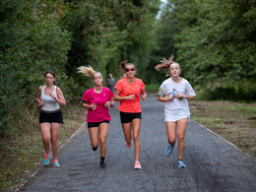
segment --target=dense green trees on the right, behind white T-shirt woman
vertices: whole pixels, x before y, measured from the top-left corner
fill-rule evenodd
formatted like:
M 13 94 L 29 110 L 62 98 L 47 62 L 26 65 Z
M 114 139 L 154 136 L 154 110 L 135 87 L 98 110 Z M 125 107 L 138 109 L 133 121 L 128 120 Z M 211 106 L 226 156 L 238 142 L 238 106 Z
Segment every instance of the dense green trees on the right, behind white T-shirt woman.
M 204 98 L 255 100 L 255 0 L 169 0 L 157 37 Z

